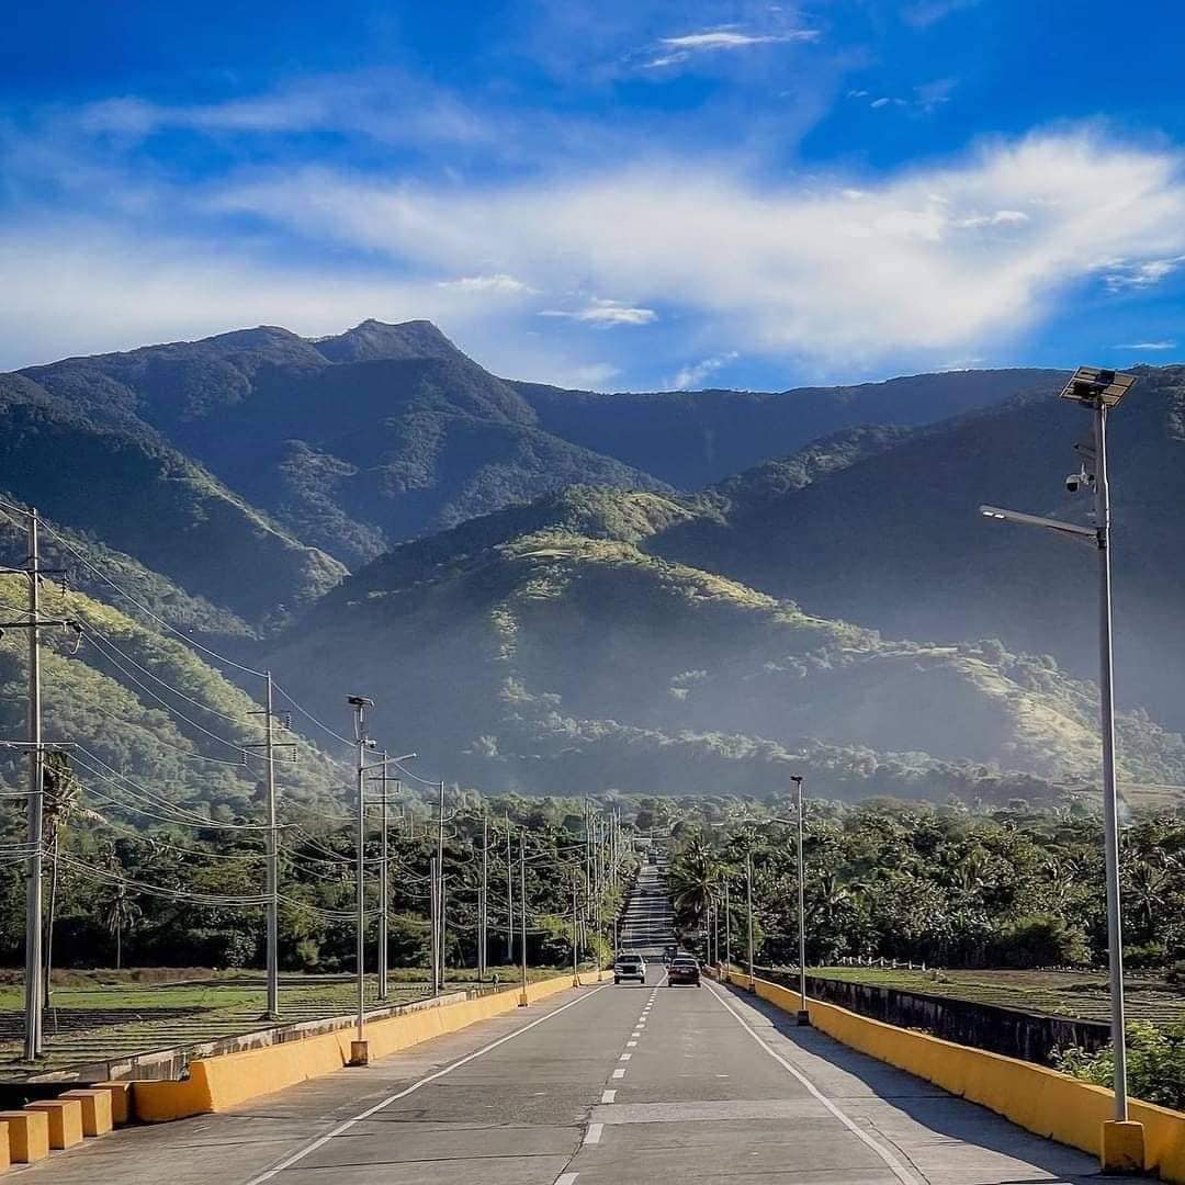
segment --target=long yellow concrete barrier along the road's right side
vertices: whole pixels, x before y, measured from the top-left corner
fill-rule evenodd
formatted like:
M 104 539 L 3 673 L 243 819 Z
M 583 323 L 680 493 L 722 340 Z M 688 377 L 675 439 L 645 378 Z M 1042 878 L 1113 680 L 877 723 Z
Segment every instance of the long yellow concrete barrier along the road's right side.
M 739 972 L 730 972 L 728 979 L 738 987 L 749 986 L 749 976 Z M 786 1012 L 802 1008 L 799 993 L 779 984 L 758 979 L 756 988 L 758 997 Z M 808 998 L 807 1011 L 815 1029 L 861 1053 L 987 1107 L 1038 1135 L 1095 1155 L 1101 1152 L 1102 1126 L 1114 1109 L 1110 1090 L 1003 1053 L 897 1029 L 835 1004 Z M 1132 1102 L 1130 1117 L 1144 1123 L 1145 1171 L 1185 1185 L 1185 1114 Z

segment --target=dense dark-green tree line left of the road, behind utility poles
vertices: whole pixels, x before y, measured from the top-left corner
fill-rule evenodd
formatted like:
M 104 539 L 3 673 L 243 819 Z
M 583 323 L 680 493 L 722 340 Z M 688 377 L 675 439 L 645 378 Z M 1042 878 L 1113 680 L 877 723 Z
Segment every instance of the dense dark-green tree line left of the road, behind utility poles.
M 55 802 L 47 787 L 47 801 Z M 346 808 L 296 809 L 281 839 L 281 966 L 334 972 L 354 965 L 356 822 Z M 620 908 L 620 888 L 600 898 L 603 934 L 584 924 L 589 901 L 584 864 L 584 813 L 579 800 L 482 800 L 449 795 L 444 871 L 448 966 L 476 963 L 476 909 L 481 880 L 483 814 L 489 832 L 489 963 L 520 956 L 519 840 L 525 843 L 527 957 L 532 965 L 571 959 L 571 891 L 578 883 L 582 957 L 609 954 L 607 935 Z M 100 814 L 85 794 L 49 811 L 47 882 L 53 885 L 53 963 L 57 967 L 261 967 L 262 905 L 228 905 L 218 897 L 258 897 L 264 884 L 260 831 L 158 826 L 137 830 L 109 806 Z M 249 818 L 257 818 L 257 814 Z M 366 896 L 374 941 L 379 908 L 380 838 L 371 813 L 366 846 Z M 507 936 L 507 826 L 512 834 L 513 959 Z M 24 822 L 6 815 L 0 843 L 23 838 Z M 55 861 L 55 837 L 58 859 Z M 429 961 L 429 861 L 436 854 L 435 815 L 425 802 L 391 808 L 390 957 L 395 967 Z M 55 863 L 57 876 L 55 877 Z M 627 870 L 630 866 L 627 861 Z M 50 893 L 47 893 L 49 898 Z M 214 898 L 214 901 L 211 901 Z M 24 949 L 24 865 L 0 864 L 0 960 L 20 963 Z

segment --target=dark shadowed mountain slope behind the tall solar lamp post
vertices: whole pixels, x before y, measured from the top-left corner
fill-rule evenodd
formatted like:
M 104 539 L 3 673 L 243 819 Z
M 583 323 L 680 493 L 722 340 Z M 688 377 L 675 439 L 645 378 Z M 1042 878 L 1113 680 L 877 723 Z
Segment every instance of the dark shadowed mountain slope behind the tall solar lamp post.
M 1183 728 L 1185 367 L 1140 373 L 1110 421 L 1117 693 Z M 1094 677 L 1091 550 L 978 514 L 994 502 L 1090 521 L 1091 498 L 1063 480 L 1090 418 L 1057 390 L 907 433 L 809 481 L 771 482 L 769 467 L 744 474 L 705 499 L 710 521 L 653 550 L 889 634 L 997 638 Z

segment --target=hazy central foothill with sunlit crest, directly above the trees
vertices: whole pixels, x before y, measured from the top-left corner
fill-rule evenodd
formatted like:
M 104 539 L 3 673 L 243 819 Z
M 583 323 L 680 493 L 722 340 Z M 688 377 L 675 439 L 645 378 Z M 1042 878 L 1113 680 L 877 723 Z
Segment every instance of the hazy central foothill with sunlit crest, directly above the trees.
M 888 642 L 643 550 L 699 513 L 574 489 L 463 524 L 361 570 L 269 661 L 326 712 L 361 688 L 425 769 L 462 752 L 491 789 L 760 793 L 787 758 L 824 794 L 1014 789 L 967 762 L 1091 776 L 1089 688 L 1050 660 Z M 1127 775 L 1183 760 L 1179 737 L 1125 720 Z

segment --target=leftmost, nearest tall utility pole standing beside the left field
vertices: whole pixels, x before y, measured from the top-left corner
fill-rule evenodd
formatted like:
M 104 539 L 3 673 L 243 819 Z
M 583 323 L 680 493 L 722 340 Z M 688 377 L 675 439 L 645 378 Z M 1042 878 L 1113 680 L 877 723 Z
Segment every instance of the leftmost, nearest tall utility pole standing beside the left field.
M 28 511 L 28 878 L 25 885 L 25 1061 L 41 1056 L 41 828 L 45 754 L 41 751 L 41 576 L 37 510 Z

